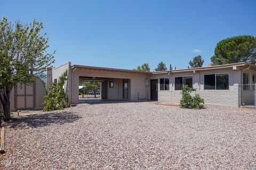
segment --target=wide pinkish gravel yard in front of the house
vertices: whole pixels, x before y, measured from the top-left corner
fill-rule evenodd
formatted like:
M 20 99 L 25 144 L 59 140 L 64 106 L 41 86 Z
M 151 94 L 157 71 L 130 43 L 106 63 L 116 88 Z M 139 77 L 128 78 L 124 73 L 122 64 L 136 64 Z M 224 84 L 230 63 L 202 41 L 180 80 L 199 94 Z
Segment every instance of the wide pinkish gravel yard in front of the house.
M 5 148 L 7 169 L 256 169 L 256 111 L 80 104 L 17 118 Z

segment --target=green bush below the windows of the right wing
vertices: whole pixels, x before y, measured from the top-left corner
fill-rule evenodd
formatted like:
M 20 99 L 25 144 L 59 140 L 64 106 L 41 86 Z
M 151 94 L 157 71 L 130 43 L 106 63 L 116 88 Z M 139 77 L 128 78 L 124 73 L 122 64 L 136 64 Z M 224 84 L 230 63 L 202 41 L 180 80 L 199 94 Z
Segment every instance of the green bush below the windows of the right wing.
M 181 88 L 182 98 L 180 99 L 180 107 L 181 108 L 203 108 L 204 107 L 204 99 L 200 97 L 200 95 L 196 94 L 195 96 L 191 96 L 190 93 L 196 91 L 188 85 L 185 85 Z

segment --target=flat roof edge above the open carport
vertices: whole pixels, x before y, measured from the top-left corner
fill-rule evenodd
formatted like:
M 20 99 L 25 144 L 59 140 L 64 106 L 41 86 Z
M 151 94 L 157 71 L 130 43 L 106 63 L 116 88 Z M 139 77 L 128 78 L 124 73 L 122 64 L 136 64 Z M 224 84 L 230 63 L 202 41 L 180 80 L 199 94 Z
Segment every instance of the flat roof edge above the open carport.
M 128 73 L 143 73 L 143 74 L 152 74 L 152 72 L 148 71 L 136 71 L 136 70 L 126 70 L 126 69 L 114 69 L 108 67 L 95 67 L 95 66 L 87 66 L 87 65 L 72 65 L 71 69 L 81 68 L 81 69 L 89 69 L 89 70 L 106 70 L 106 71 L 114 71 L 114 72 L 128 72 Z

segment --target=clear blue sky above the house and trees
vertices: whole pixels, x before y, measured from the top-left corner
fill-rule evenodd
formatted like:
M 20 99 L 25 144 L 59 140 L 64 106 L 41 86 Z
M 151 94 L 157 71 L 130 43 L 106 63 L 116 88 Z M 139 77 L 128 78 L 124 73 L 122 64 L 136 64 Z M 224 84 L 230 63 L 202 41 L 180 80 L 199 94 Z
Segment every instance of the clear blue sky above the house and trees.
M 55 66 L 72 64 L 133 69 L 161 61 L 187 68 L 216 44 L 256 36 L 256 1 L 2 1 L 0 16 L 44 24 Z M 194 52 L 193 50 L 196 50 Z

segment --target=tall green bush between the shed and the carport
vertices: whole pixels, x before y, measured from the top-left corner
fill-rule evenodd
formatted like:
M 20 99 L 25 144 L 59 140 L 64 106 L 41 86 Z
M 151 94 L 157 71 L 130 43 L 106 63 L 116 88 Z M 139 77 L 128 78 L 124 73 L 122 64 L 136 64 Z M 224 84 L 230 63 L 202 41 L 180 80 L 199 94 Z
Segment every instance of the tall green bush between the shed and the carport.
M 65 108 L 68 105 L 68 96 L 63 89 L 67 80 L 68 71 L 66 70 L 60 77 L 57 83 L 52 83 L 49 94 L 45 96 L 43 102 L 43 111 L 55 111 Z

